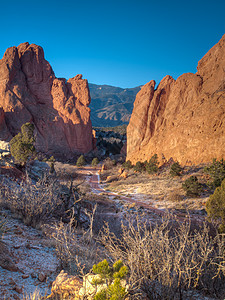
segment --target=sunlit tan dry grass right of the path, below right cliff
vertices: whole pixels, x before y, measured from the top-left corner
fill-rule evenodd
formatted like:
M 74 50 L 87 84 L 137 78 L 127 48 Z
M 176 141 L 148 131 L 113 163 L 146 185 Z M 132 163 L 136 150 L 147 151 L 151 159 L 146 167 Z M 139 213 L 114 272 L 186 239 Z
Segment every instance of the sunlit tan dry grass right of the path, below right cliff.
M 114 171 L 117 172 L 117 170 Z M 203 166 L 201 166 L 198 168 L 186 167 L 180 177 L 171 177 L 169 168 L 161 170 L 159 175 L 148 175 L 146 172 L 135 173 L 133 170 L 129 170 L 126 179 L 105 181 L 104 186 L 107 190 L 118 193 L 118 195 L 131 197 L 156 208 L 185 209 L 199 213 L 205 208 L 209 192 L 204 191 L 198 198 L 186 197 L 182 183 L 192 174 L 197 175 L 201 183 L 206 183 L 207 179 L 203 173 Z M 112 171 L 111 176 L 113 176 Z M 102 175 L 101 178 L 104 181 Z

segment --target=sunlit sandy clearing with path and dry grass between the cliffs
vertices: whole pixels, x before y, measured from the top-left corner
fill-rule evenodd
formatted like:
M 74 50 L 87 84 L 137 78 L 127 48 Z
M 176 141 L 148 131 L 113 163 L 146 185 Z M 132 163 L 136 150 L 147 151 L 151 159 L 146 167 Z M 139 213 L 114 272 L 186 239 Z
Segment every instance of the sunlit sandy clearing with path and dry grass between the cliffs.
M 159 176 L 148 175 L 147 173 L 128 172 L 128 178 L 118 178 L 120 166 L 110 170 L 105 170 L 98 175 L 99 168 L 85 166 L 78 168 L 69 164 L 56 163 L 57 174 L 61 174 L 62 181 L 74 178 L 74 184 L 79 184 L 81 190 L 89 193 L 105 195 L 111 200 L 129 202 L 129 200 L 158 210 L 176 210 L 179 213 L 190 213 L 204 215 L 205 203 L 209 197 L 203 193 L 201 197 L 186 197 L 182 189 L 182 183 L 191 175 L 197 175 L 201 179 L 203 176 L 202 168 L 189 168 L 180 177 L 171 177 L 168 171 Z M 115 180 L 108 183 L 106 178 L 112 176 Z M 202 179 L 203 181 L 203 179 Z

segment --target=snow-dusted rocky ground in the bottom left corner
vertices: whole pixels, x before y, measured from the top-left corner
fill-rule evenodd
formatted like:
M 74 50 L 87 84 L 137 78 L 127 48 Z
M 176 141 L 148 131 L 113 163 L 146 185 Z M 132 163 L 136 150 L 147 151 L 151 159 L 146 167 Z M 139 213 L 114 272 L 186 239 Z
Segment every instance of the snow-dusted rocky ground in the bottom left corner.
M 11 272 L 0 267 L 0 299 L 23 299 L 35 290 L 43 296 L 50 294 L 60 266 L 50 241 L 40 230 L 24 225 L 7 210 L 2 211 L 3 219 L 3 242 L 19 270 Z

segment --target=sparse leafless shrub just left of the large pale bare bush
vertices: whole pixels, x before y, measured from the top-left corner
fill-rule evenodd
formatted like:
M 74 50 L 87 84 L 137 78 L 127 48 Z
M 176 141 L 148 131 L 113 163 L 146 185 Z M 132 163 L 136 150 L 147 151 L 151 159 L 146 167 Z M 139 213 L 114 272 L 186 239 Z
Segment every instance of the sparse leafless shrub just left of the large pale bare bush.
M 44 226 L 45 233 L 55 241 L 62 268 L 67 269 L 71 274 L 83 276 L 105 257 L 99 250 L 92 231 L 95 210 L 96 206 L 92 213 L 88 213 L 90 227 L 87 231 L 77 228 L 73 216 L 67 224 L 59 222 Z

